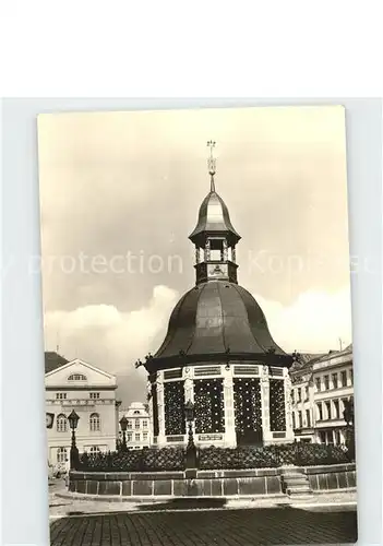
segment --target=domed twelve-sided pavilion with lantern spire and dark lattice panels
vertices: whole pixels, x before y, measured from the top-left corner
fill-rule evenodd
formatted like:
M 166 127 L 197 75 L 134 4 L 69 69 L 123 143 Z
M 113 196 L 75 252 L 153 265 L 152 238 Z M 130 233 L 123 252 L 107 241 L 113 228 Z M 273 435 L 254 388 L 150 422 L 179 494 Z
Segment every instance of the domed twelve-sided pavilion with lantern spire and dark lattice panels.
M 216 192 L 213 157 L 208 166 L 211 190 L 189 237 L 195 286 L 176 305 L 161 346 L 144 363 L 153 444 L 187 443 L 188 401 L 194 404 L 200 447 L 292 441 L 292 357 L 275 343 L 261 307 L 238 284 L 240 235 Z

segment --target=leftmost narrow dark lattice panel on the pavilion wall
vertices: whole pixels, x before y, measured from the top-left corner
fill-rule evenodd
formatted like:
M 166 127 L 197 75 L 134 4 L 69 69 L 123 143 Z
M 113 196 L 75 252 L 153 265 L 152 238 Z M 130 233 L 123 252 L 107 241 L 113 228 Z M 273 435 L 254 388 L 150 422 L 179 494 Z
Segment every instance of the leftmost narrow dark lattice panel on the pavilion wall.
M 184 389 L 183 381 L 171 381 L 164 384 L 165 435 L 184 435 Z

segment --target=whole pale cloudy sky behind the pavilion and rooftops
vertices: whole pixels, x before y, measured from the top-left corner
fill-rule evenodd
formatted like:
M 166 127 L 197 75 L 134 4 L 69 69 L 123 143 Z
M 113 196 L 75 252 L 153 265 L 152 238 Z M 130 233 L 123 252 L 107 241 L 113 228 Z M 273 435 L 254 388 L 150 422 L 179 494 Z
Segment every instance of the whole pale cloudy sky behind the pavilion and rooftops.
M 118 373 L 158 348 L 194 284 L 188 236 L 216 189 L 242 236 L 239 283 L 287 352 L 351 342 L 345 112 L 270 107 L 38 118 L 46 348 Z

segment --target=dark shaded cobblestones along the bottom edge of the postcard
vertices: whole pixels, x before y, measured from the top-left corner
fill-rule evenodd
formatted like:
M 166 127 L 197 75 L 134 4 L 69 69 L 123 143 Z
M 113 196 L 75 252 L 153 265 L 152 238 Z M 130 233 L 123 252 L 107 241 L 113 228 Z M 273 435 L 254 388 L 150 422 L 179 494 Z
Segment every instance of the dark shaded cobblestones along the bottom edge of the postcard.
M 291 507 L 75 515 L 50 526 L 51 546 L 354 544 L 357 513 Z

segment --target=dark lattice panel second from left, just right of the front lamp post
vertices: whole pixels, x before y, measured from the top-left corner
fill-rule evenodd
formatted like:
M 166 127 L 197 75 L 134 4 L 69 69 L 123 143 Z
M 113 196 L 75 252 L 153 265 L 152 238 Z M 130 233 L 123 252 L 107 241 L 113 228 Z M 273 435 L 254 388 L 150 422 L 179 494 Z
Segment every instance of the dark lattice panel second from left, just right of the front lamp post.
M 225 432 L 224 385 L 222 379 L 194 381 L 195 432 Z

